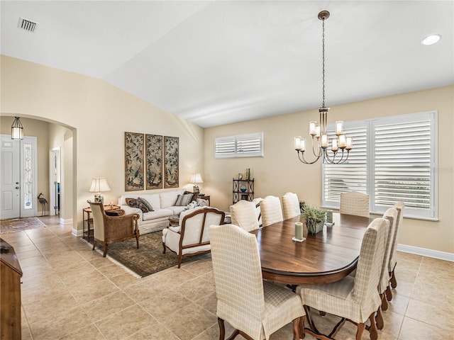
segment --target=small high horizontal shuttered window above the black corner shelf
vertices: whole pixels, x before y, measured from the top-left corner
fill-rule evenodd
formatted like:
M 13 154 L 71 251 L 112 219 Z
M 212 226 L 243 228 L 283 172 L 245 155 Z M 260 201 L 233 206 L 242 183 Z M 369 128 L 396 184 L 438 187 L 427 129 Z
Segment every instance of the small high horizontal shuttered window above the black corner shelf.
M 214 140 L 214 158 L 263 157 L 263 132 Z

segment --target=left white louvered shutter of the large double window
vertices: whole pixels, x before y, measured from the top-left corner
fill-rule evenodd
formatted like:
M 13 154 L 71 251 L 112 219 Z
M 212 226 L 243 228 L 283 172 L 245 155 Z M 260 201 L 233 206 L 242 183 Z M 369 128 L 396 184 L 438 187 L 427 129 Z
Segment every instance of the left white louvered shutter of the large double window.
M 330 145 L 328 153 L 331 155 L 331 140 L 336 137 L 334 124 L 328 125 Z M 353 149 L 343 164 L 323 163 L 322 189 L 323 203 L 328 208 L 338 208 L 341 193 L 359 191 L 367 193 L 367 125 L 365 123 L 345 123 L 344 133 L 353 137 Z M 338 152 L 336 159 L 341 157 Z M 345 157 L 345 156 L 344 156 Z M 332 158 L 332 157 L 331 157 Z

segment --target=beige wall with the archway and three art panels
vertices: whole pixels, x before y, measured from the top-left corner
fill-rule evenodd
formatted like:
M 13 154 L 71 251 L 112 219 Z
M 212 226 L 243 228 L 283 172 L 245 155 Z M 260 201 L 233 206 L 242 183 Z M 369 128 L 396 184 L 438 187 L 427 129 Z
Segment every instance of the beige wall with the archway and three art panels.
M 180 188 L 190 187 L 192 172 L 204 170 L 202 128 L 100 79 L 1 56 L 1 115 L 37 118 L 72 130 L 70 176 L 74 227 L 79 230 L 82 208 L 93 198 L 88 192 L 93 177 L 108 179 L 112 190 L 104 193 L 106 201 L 116 202 L 124 193 L 126 131 L 179 137 Z

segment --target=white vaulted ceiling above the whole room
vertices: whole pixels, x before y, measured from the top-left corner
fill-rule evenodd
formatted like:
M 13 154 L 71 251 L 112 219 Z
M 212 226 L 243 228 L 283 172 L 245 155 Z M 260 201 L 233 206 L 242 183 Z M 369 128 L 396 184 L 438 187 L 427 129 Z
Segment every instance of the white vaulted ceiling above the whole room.
M 454 1 L 0 6 L 2 55 L 103 79 L 203 128 L 321 106 L 323 9 L 326 106 L 454 84 Z

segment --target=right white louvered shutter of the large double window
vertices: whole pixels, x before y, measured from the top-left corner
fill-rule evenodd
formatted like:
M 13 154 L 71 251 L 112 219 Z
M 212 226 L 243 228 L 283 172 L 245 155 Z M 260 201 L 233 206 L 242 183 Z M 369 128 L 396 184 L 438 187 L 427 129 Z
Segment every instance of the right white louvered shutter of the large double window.
M 374 210 L 381 211 L 402 200 L 407 210 L 433 216 L 431 200 L 433 145 L 431 118 L 373 123 Z

